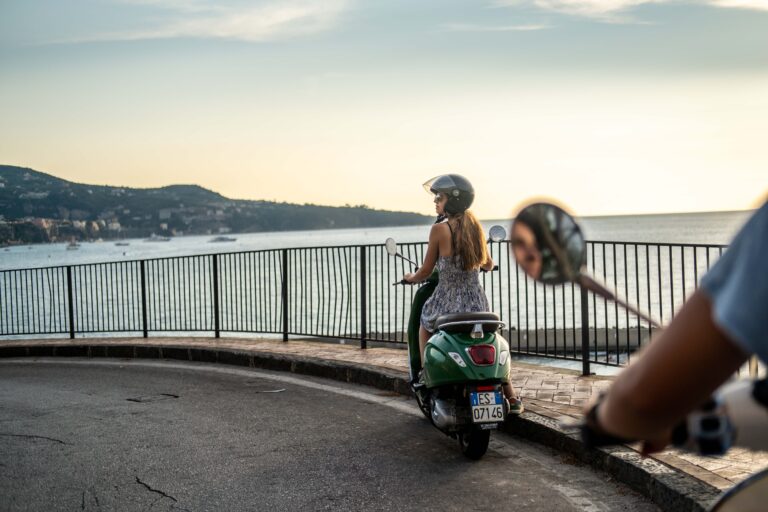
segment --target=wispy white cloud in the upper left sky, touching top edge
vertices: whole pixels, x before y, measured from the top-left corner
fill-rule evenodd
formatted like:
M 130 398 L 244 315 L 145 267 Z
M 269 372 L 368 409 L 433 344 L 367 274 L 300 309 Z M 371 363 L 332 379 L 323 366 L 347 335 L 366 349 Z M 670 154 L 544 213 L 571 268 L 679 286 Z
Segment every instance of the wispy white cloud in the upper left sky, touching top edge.
M 232 39 L 271 41 L 329 30 L 346 10 L 347 0 L 289 0 L 253 6 L 222 5 L 203 0 L 120 0 L 121 3 L 167 11 L 150 28 L 106 32 L 76 41 L 136 41 L 143 39 Z

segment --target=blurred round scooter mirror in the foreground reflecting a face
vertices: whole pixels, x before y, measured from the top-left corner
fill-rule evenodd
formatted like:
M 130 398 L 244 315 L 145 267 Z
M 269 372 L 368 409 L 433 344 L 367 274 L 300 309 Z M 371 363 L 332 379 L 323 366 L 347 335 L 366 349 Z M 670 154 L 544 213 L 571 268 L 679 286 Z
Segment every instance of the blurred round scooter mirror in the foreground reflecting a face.
M 526 274 L 546 284 L 574 281 L 587 261 L 576 221 L 559 206 L 534 203 L 512 223 L 512 252 Z

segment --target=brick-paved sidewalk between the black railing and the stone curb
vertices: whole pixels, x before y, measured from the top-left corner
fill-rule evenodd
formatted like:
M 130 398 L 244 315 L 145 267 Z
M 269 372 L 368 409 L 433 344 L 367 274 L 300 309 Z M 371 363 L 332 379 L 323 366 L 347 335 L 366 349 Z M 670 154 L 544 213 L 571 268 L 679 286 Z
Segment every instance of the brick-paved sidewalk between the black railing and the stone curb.
M 200 338 L 200 337 L 158 337 L 158 338 L 78 338 L 46 340 L 14 340 L 0 346 L 62 345 L 155 345 L 185 347 L 216 347 L 242 351 L 323 359 L 335 362 L 350 362 L 387 368 L 407 374 L 407 352 L 396 348 L 368 348 L 361 350 L 354 345 L 323 343 L 318 341 L 292 340 L 287 343 L 252 338 Z M 555 420 L 577 418 L 581 407 L 601 390 L 611 384 L 611 377 L 582 377 L 573 370 L 564 370 L 543 365 L 513 361 L 513 385 L 523 396 L 526 410 Z M 699 480 L 718 488 L 726 489 L 752 473 L 768 467 L 768 452 L 752 452 L 731 449 L 726 456 L 699 457 L 678 450 L 667 450 L 653 458 L 682 470 Z

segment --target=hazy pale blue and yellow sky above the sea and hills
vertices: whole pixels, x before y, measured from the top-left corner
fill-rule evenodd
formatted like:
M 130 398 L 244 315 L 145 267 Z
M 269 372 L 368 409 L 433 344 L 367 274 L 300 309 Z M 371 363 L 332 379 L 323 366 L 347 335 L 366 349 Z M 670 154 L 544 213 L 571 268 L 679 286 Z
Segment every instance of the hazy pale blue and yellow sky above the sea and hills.
M 0 0 L 0 163 L 482 218 L 746 209 L 768 0 Z

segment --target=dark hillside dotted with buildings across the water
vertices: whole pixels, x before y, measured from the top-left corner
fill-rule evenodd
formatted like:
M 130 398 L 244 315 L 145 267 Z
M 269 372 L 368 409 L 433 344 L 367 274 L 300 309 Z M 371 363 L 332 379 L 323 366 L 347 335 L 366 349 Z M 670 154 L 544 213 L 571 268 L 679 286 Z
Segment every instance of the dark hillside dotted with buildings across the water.
M 197 185 L 73 183 L 0 165 L 0 243 L 423 224 L 425 215 L 228 199 Z

